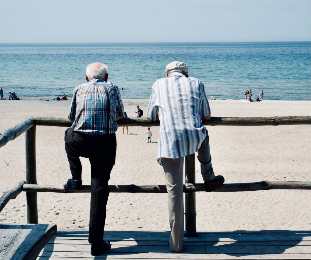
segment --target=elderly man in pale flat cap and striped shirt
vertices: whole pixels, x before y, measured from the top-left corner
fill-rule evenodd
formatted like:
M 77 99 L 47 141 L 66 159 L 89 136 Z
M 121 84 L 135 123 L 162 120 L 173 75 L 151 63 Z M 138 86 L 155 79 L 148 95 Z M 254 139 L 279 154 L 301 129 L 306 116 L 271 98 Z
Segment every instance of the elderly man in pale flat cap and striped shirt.
M 188 77 L 188 66 L 174 61 L 166 66 L 166 78 L 157 80 L 147 108 L 147 117 L 160 119 L 158 162 L 163 166 L 168 192 L 169 250 L 183 251 L 183 161 L 184 156 L 198 152 L 205 191 L 224 183 L 215 177 L 211 165 L 209 137 L 202 119 L 211 111 L 204 85 Z

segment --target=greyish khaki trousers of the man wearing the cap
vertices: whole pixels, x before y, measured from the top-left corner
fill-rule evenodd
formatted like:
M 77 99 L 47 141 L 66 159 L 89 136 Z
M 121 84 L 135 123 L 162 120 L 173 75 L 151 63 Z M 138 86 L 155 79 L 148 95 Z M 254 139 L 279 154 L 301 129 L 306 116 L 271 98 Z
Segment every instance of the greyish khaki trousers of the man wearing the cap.
M 197 153 L 197 158 L 201 163 L 203 180 L 209 181 L 215 179 L 211 164 L 208 134 Z M 184 157 L 161 157 L 168 193 L 169 225 L 171 228 L 169 250 L 173 252 L 183 251 L 183 162 Z

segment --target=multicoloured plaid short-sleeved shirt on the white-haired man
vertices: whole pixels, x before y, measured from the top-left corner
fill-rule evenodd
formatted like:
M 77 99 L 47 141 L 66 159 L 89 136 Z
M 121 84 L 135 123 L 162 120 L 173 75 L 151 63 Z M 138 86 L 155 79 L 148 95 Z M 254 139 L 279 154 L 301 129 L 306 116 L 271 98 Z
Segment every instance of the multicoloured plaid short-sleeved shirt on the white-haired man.
M 72 93 L 68 118 L 74 131 L 88 135 L 111 134 L 117 131 L 116 115 L 124 116 L 119 88 L 112 82 L 92 79 L 77 86 Z

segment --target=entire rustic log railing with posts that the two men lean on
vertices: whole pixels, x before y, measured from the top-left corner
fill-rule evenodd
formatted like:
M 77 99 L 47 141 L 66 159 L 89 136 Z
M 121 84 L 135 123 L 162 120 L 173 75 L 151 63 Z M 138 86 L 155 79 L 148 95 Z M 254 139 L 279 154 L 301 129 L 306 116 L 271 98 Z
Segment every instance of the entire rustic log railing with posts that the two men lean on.
M 264 126 L 264 125 L 292 125 L 311 124 L 311 117 L 261 117 L 261 118 L 231 118 L 211 117 L 203 120 L 204 125 L 230 125 L 230 126 Z M 36 126 L 60 126 L 70 127 L 72 122 L 65 118 L 50 117 L 27 117 L 16 126 L 0 133 L 0 147 L 10 140 L 15 139 L 26 132 L 26 184 L 22 181 L 14 189 L 3 194 L 0 198 L 0 211 L 5 207 L 10 198 L 14 198 L 21 192 L 26 191 L 27 222 L 38 223 L 37 192 L 91 192 L 91 186 L 83 185 L 81 190 L 67 190 L 63 186 L 38 185 L 36 177 L 36 152 L 35 133 Z M 150 121 L 144 118 L 124 118 L 118 121 L 119 126 L 159 126 L 159 121 Z M 309 173 L 306 173 L 309 174 Z M 110 192 L 128 193 L 166 193 L 165 185 L 109 185 Z M 297 182 L 269 182 L 261 181 L 254 183 L 225 183 L 216 192 L 256 191 L 268 189 L 311 189 L 308 181 Z M 185 157 L 185 225 L 186 236 L 196 236 L 196 203 L 195 192 L 204 191 L 203 183 L 195 183 L 195 155 Z

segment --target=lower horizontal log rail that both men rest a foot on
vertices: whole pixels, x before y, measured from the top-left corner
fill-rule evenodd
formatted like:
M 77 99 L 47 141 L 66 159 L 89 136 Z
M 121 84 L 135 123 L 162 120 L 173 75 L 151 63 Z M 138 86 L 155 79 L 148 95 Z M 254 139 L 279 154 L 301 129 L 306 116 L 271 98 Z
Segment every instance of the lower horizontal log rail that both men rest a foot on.
M 183 192 L 204 191 L 203 183 L 186 183 L 183 185 Z M 110 192 L 121 193 L 166 193 L 165 185 L 108 185 Z M 292 182 L 251 182 L 251 183 L 229 183 L 223 184 L 215 192 L 238 192 L 238 191 L 258 191 L 272 189 L 300 189 L 311 190 L 309 181 L 292 181 Z M 66 190 L 62 185 L 35 185 L 24 184 L 23 191 L 26 192 L 58 192 L 58 193 L 86 193 L 91 192 L 90 185 L 82 185 L 81 190 Z

